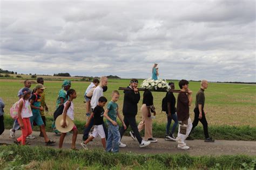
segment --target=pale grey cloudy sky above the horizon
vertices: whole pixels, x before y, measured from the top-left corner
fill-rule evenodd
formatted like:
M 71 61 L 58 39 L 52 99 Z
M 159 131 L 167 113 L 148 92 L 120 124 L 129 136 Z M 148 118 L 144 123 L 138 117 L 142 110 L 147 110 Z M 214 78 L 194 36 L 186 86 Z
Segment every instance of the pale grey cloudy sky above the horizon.
M 255 1 L 1 1 L 0 68 L 255 82 Z

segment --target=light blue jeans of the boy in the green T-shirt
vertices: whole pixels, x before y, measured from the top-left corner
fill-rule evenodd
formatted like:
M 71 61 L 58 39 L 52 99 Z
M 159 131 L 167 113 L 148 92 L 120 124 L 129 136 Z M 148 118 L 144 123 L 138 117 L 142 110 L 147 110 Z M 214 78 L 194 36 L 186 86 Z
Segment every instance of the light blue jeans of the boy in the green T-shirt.
M 106 142 L 106 152 L 118 152 L 119 151 L 119 141 L 120 141 L 120 133 L 119 126 L 114 126 L 112 123 L 107 122 L 107 126 L 109 127 L 109 134 L 107 136 Z

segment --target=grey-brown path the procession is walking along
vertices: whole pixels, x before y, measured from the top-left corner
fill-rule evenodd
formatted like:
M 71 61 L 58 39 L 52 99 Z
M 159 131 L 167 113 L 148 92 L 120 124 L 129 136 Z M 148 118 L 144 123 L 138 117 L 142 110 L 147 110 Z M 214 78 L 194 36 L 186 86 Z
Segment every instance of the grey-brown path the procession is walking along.
M 0 143 L 14 144 L 12 138 L 9 137 L 9 130 L 6 129 L 4 133 L 0 136 Z M 16 136 L 19 136 L 21 131 L 16 132 Z M 33 132 L 36 136 L 35 139 L 28 139 L 31 146 L 44 146 L 44 138 L 38 137 L 39 132 Z M 56 141 L 55 146 L 58 147 L 59 136 L 54 133 L 47 133 L 50 139 Z M 64 140 L 64 148 L 71 147 L 72 134 L 66 136 Z M 80 146 L 82 142 L 82 134 L 78 134 L 77 137 L 77 148 L 83 149 Z M 256 155 L 256 141 L 236 141 L 236 140 L 216 140 L 214 143 L 205 143 L 204 140 L 192 140 L 187 141 L 187 146 L 190 146 L 190 150 L 179 150 L 177 148 L 177 143 L 175 141 L 166 141 L 163 138 L 158 138 L 157 143 L 151 143 L 148 147 L 139 148 L 138 141 L 132 140 L 131 137 L 124 136 L 122 142 L 127 145 L 127 147 L 120 148 L 120 152 L 132 152 L 140 154 L 156 154 L 156 153 L 187 153 L 190 155 L 235 155 L 235 154 L 246 154 L 246 155 Z M 88 148 L 102 148 L 100 138 L 96 138 L 93 142 L 88 144 Z

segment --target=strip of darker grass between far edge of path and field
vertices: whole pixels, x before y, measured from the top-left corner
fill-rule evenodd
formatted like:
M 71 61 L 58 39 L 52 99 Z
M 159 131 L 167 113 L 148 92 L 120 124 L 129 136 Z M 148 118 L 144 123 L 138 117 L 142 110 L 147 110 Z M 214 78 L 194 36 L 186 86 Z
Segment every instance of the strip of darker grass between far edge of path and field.
M 51 117 L 46 117 L 46 131 L 52 132 L 51 124 L 53 119 Z M 11 129 L 14 120 L 10 116 L 5 116 L 4 124 L 5 129 Z M 85 122 L 75 121 L 79 133 L 83 133 Z M 120 123 L 119 123 L 120 124 Z M 153 124 L 153 136 L 156 138 L 165 137 L 166 124 Z M 39 127 L 35 126 L 34 131 L 39 131 Z M 129 136 L 129 128 L 126 130 L 125 135 Z M 178 127 L 176 128 L 177 134 Z M 208 131 L 211 137 L 214 139 L 225 139 L 225 140 L 256 140 L 256 127 L 251 126 L 209 126 Z M 142 131 L 142 136 L 144 136 L 144 131 Z M 192 133 L 192 137 L 195 139 L 204 139 L 204 130 L 202 126 L 198 126 Z

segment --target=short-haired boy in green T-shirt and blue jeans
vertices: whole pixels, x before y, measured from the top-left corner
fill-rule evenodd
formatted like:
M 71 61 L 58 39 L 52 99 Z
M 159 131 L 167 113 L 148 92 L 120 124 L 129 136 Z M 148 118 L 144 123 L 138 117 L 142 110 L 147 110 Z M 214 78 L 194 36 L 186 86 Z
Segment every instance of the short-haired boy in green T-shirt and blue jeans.
M 118 104 L 116 103 L 119 98 L 119 92 L 114 90 L 112 92 L 112 100 L 107 104 L 107 109 L 104 112 L 104 117 L 107 119 L 107 126 L 109 127 L 109 133 L 107 135 L 106 152 L 118 152 L 120 133 L 119 126 L 117 124 L 117 116 L 123 123 L 124 128 L 126 125 L 118 112 Z

